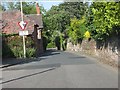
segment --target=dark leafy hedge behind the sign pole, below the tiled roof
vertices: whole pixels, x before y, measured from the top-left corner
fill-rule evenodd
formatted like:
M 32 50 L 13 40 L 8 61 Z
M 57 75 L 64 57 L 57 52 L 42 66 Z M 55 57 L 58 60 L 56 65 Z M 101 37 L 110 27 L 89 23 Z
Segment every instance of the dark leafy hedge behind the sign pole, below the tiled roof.
M 22 37 L 18 35 L 3 35 L 2 56 L 23 58 Z M 35 55 L 34 43 L 30 37 L 26 38 L 26 55 L 33 57 Z

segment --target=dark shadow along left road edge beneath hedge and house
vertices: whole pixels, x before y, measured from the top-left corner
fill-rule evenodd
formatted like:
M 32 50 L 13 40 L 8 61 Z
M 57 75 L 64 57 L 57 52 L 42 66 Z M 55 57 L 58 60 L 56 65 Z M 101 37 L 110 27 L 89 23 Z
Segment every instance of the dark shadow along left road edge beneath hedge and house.
M 60 54 L 56 50 L 49 49 L 43 54 L 41 54 L 41 57 L 38 58 L 26 58 L 26 59 L 16 59 L 16 58 L 3 58 L 2 59 L 2 68 L 14 66 L 14 65 L 19 65 L 19 64 L 26 64 L 26 63 L 31 63 L 31 62 L 39 62 L 41 60 L 45 60 L 47 58 L 42 57 L 42 56 L 53 56 Z

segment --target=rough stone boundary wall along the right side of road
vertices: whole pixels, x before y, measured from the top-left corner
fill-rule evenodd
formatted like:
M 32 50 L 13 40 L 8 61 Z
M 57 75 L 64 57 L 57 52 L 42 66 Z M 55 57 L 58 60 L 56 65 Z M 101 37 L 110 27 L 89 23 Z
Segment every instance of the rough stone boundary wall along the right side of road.
M 114 36 L 109 38 L 105 43 L 94 40 L 83 40 L 81 44 L 73 45 L 71 42 L 68 42 L 67 50 L 94 56 L 103 63 L 117 67 L 118 56 L 120 56 L 120 41 L 118 37 Z

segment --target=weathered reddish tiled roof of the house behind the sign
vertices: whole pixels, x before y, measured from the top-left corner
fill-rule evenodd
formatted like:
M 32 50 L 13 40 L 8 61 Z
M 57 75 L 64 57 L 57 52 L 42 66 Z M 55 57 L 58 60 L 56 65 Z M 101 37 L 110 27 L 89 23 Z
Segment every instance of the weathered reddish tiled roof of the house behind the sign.
M 33 16 L 33 15 L 32 15 Z M 34 15 L 34 18 L 31 15 L 26 16 L 23 15 L 24 21 L 28 22 L 25 30 L 28 30 L 29 34 L 32 34 L 34 30 L 34 24 L 42 25 L 42 16 L 41 15 Z M 38 20 L 38 21 L 36 21 Z M 21 30 L 18 22 L 21 21 L 21 13 L 19 10 L 12 10 L 12 11 L 5 11 L 2 13 L 2 32 L 6 34 L 18 34 Z

